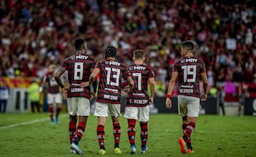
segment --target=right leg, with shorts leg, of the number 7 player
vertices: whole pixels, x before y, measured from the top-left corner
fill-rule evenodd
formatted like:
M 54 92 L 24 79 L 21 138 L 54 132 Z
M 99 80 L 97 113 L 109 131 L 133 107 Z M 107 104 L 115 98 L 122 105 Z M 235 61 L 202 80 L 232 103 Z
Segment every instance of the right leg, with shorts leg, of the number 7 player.
M 149 122 L 149 105 L 146 107 L 139 107 L 139 124 L 141 127 L 141 153 L 146 153 L 148 147 L 146 142 L 148 139 L 148 122 Z

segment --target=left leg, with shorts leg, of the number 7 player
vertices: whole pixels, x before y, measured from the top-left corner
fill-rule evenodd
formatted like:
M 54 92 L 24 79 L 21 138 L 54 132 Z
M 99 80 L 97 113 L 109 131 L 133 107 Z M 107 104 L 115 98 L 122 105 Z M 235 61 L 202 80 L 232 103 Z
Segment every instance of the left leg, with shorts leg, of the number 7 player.
M 129 144 L 131 145 L 130 154 L 134 154 L 134 153 L 137 153 L 136 145 L 135 145 L 135 136 L 136 136 L 135 126 L 136 126 L 136 120 L 138 120 L 138 108 L 125 107 L 124 117 L 127 118 L 127 122 L 128 122 L 127 134 L 128 134 Z

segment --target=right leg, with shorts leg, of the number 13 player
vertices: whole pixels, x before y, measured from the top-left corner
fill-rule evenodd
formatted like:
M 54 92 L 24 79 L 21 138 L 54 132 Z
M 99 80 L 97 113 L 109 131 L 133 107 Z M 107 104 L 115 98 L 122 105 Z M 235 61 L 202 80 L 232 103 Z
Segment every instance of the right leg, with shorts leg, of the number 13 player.
M 113 124 L 114 153 L 116 153 L 117 155 L 122 154 L 122 151 L 119 149 L 119 142 L 121 136 L 121 127 L 119 123 L 119 117 L 121 116 L 120 108 L 120 104 L 109 104 L 109 110 Z

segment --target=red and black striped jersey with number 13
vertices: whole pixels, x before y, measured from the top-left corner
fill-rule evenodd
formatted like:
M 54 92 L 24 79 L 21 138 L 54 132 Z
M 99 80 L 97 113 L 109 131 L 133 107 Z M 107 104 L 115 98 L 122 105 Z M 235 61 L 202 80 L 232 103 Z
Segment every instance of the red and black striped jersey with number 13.
M 122 78 L 131 76 L 126 66 L 114 60 L 105 60 L 97 63 L 95 68 L 100 69 L 97 102 L 120 104 Z

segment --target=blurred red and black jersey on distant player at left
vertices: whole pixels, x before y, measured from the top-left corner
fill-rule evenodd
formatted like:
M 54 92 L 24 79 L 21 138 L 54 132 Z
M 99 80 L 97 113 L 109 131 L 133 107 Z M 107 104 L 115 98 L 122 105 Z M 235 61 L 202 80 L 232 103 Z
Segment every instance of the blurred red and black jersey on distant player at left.
M 54 76 L 50 73 L 46 73 L 46 76 L 43 76 L 43 82 L 47 83 L 47 93 L 58 93 L 59 86 L 58 83 L 55 81 Z

